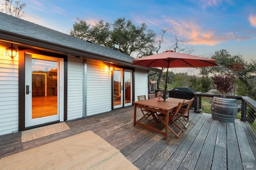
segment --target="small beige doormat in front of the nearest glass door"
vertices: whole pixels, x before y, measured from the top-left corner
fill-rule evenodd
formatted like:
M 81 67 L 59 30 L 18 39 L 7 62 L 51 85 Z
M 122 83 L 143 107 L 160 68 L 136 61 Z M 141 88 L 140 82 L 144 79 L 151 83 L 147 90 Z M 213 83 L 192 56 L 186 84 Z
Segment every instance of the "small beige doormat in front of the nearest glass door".
M 34 139 L 52 135 L 54 133 L 66 131 L 68 129 L 70 129 L 70 127 L 68 127 L 68 125 L 65 122 L 61 122 L 53 125 L 38 127 L 38 128 L 30 129 L 27 131 L 22 131 L 21 142 L 23 143 L 27 141 L 32 141 Z

